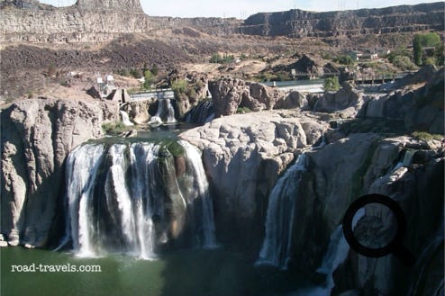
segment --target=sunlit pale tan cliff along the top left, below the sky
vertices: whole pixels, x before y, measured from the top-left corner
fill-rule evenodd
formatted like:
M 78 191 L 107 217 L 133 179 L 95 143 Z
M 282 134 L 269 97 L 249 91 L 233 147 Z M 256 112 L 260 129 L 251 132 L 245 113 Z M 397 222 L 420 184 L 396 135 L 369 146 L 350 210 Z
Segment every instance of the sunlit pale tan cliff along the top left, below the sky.
M 104 42 L 123 33 L 143 33 L 192 27 L 209 34 L 229 34 L 235 19 L 151 17 L 138 0 L 79 0 L 56 8 L 50 5 L 2 9 L 2 42 Z

